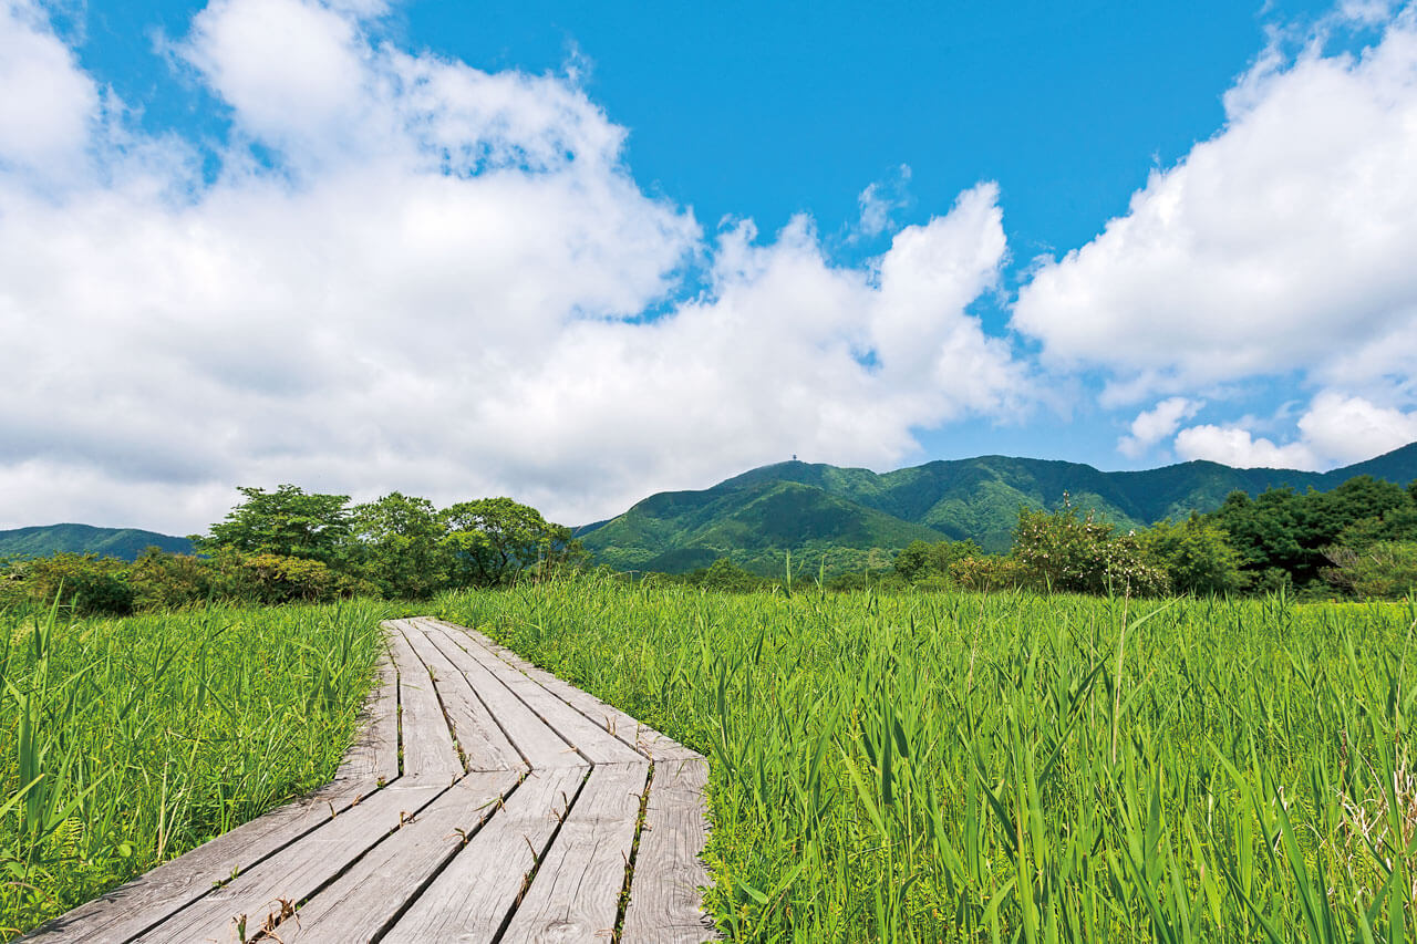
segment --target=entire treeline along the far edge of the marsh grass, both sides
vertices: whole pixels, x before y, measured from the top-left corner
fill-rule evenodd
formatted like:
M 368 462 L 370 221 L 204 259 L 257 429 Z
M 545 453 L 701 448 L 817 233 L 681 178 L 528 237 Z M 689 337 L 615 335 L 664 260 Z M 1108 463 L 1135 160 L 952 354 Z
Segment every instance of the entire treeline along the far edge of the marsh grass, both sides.
M 150 547 L 135 561 L 57 553 L 0 561 L 0 605 L 62 600 L 79 612 L 129 614 L 222 600 L 279 604 L 350 597 L 424 600 L 509 585 L 594 560 L 571 529 L 507 498 L 438 509 L 398 492 L 344 495 L 241 488 L 242 500 L 196 554 Z M 1359 475 L 1329 492 L 1233 492 L 1209 513 L 1118 527 L 1073 505 L 1020 507 L 1012 547 L 915 540 L 903 549 L 785 554 L 775 575 L 731 556 L 687 574 L 633 574 L 718 591 L 1010 590 L 1394 598 L 1417 585 L 1417 482 Z

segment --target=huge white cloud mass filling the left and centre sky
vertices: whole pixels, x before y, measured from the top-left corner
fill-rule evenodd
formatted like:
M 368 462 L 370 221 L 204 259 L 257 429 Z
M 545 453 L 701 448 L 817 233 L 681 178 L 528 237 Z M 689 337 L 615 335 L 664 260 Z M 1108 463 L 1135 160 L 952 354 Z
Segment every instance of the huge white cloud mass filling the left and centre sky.
M 915 427 L 1022 408 L 1024 370 L 965 313 L 1005 258 L 992 184 L 866 268 L 806 218 L 706 242 L 572 82 L 377 43 L 378 10 L 196 17 L 174 48 L 230 108 L 214 180 L 99 108 L 33 9 L 0 20 L 0 50 L 69 89 L 58 130 L 0 115 L 0 526 L 181 533 L 276 482 L 510 493 L 574 523 L 791 452 L 888 463 Z M 20 167 L 41 157 L 74 170 L 41 186 Z

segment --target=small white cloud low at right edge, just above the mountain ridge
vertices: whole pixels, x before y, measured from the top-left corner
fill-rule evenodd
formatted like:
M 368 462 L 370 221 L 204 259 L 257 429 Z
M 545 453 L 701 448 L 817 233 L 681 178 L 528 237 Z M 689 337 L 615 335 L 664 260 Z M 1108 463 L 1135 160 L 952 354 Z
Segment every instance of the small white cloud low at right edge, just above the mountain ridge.
M 1299 437 L 1275 445 L 1243 425 L 1197 425 L 1176 434 L 1183 459 L 1241 468 L 1321 469 L 1349 465 L 1417 441 L 1417 411 L 1403 412 L 1336 391 L 1318 394 L 1298 421 Z

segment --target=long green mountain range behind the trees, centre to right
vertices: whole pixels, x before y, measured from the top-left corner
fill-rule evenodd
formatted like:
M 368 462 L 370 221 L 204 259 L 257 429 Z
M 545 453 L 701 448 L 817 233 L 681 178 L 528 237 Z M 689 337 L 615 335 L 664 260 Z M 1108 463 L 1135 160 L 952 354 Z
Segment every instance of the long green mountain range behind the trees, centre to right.
M 775 573 L 784 551 L 898 549 L 914 540 L 973 539 L 1009 549 L 1023 506 L 1053 509 L 1064 495 L 1122 527 L 1209 512 L 1231 492 L 1275 486 L 1328 490 L 1355 475 L 1417 479 L 1417 442 L 1331 472 L 1236 469 L 1182 462 L 1142 472 L 986 455 L 894 472 L 779 462 L 697 492 L 660 492 L 623 515 L 577 529 L 601 563 L 684 573 L 718 557 Z

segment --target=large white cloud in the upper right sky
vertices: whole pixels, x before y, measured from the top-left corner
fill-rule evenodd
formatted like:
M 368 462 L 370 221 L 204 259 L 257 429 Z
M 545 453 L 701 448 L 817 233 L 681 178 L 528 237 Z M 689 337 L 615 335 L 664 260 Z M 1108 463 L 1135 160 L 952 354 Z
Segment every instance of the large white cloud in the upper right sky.
M 1382 4 L 1349 4 L 1373 21 Z M 1390 374 L 1417 356 L 1417 10 L 1360 54 L 1260 58 L 1224 128 L 1019 293 L 1013 326 L 1107 403 L 1251 376 Z M 1363 339 L 1355 350 L 1355 339 Z M 1212 434 L 1207 434 L 1212 435 Z

